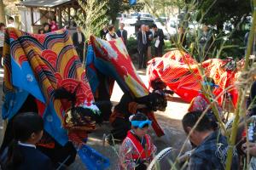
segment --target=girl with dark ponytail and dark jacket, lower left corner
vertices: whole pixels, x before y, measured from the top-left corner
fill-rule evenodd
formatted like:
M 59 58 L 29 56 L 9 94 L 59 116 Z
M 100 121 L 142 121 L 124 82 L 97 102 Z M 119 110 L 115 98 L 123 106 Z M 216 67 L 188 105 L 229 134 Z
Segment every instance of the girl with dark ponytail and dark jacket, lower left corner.
M 15 139 L 9 146 L 4 169 L 51 170 L 51 161 L 36 149 L 42 138 L 44 121 L 37 113 L 20 113 L 13 123 Z

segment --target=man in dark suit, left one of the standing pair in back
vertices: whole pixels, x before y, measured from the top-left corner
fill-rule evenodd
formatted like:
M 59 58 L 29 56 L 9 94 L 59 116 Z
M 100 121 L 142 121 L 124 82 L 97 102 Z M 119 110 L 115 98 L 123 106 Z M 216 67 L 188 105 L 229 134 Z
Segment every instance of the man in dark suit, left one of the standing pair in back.
M 148 34 L 146 32 L 146 26 L 141 26 L 141 30 L 137 34 L 137 49 L 139 52 L 139 66 L 141 69 L 146 68 L 147 51 L 148 51 Z

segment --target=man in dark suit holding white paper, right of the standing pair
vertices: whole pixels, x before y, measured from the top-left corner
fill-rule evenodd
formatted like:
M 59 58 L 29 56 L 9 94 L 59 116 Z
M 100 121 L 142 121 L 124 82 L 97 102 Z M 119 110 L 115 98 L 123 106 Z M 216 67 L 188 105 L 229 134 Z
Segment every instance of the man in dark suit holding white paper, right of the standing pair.
M 154 38 L 156 41 L 154 43 L 154 56 L 161 57 L 163 55 L 163 46 L 164 42 L 164 32 L 162 29 L 159 29 L 155 24 L 152 25 L 152 29 L 154 30 Z

